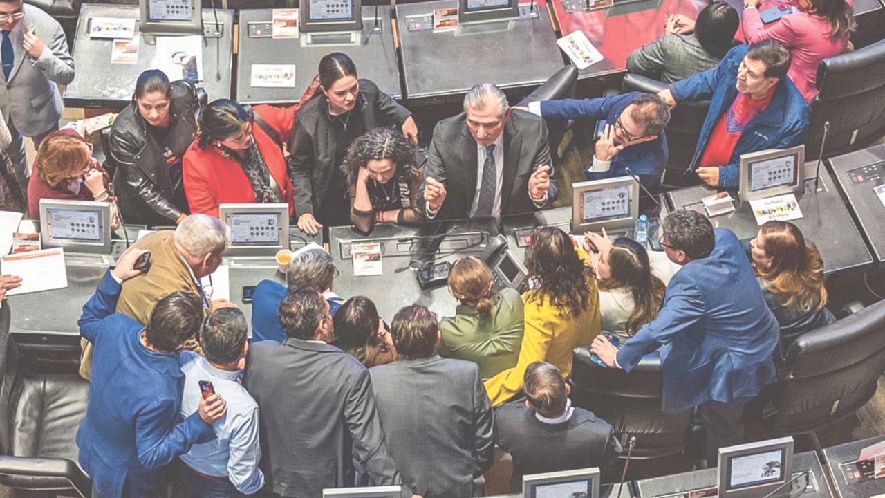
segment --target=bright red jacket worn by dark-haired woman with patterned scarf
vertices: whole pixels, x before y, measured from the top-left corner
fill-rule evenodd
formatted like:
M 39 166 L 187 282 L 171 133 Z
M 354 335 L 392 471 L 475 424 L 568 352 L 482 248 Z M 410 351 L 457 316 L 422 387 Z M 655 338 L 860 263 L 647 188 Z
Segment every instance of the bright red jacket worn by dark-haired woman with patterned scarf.
M 254 111 L 276 130 L 283 144 L 289 142 L 292 123 L 295 121 L 296 105 L 285 108 L 256 105 Z M 258 144 L 258 151 L 265 159 L 273 180 L 280 185 L 282 197 L 289 202 L 289 214 L 292 214 L 295 211 L 292 180 L 286 172 L 286 159 L 280 147 L 267 136 L 258 123 L 252 124 L 252 136 Z M 242 172 L 240 163 L 233 158 L 222 156 L 219 148 L 212 144 L 201 149 L 197 145 L 197 140 L 199 135 L 194 143 L 190 144 L 188 152 L 184 153 L 181 169 L 190 213 L 218 217 L 221 204 L 254 203 L 255 191 L 252 190 L 249 178 Z

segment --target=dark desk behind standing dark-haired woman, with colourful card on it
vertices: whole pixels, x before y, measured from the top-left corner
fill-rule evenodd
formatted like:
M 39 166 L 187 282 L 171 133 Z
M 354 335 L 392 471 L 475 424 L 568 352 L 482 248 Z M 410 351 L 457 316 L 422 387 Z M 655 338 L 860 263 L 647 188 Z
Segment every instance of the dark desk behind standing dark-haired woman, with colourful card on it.
M 378 7 L 378 25 L 381 27 L 381 34 L 372 32 L 374 14 L 374 7 L 363 7 L 363 35 L 362 43 L 359 45 L 303 47 L 301 45 L 304 40 L 303 33 L 299 38 L 278 40 L 269 36 L 250 37 L 250 23 L 258 25 L 270 23 L 273 19 L 272 9 L 240 11 L 236 99 L 243 104 L 298 102 L 301 94 L 317 74 L 319 59 L 334 51 L 344 52 L 353 59 L 360 78 L 372 80 L 378 84 L 381 91 L 389 93 L 394 98 L 402 97 L 390 7 L 388 5 Z M 251 88 L 252 64 L 294 64 L 295 88 Z

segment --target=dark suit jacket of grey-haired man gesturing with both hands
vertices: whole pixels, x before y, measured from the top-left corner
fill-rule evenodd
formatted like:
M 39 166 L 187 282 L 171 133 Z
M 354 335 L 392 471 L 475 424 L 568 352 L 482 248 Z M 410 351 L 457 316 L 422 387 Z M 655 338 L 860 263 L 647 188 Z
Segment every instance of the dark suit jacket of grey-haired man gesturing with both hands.
M 424 161 L 424 176 L 445 184 L 446 198 L 436 220 L 466 218 L 476 195 L 477 171 L 476 140 L 467 129 L 467 115 L 460 113 L 437 123 L 434 137 Z M 504 177 L 501 182 L 501 214 L 519 214 L 539 208 L 528 197 L 528 178 L 537 167 L 550 166 L 550 189 L 547 204 L 557 197 L 553 179 L 547 125 L 533 113 L 513 109 L 504 125 Z M 419 191 L 419 206 L 427 208 L 424 188 Z

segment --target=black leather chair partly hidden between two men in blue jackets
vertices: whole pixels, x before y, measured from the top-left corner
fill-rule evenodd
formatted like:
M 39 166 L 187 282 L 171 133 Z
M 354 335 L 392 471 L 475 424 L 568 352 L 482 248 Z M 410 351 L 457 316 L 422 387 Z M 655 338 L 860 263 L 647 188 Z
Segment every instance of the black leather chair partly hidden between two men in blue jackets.
M 667 85 L 645 76 L 627 73 L 621 88 L 624 92 L 658 93 L 666 89 Z M 695 154 L 697 141 L 701 137 L 701 128 L 704 126 L 709 109 L 709 100 L 680 102 L 673 107 L 670 123 L 666 126 L 666 145 L 669 150 L 663 181 L 666 185 L 686 186 L 699 183 L 697 176 L 687 175 L 686 170 Z

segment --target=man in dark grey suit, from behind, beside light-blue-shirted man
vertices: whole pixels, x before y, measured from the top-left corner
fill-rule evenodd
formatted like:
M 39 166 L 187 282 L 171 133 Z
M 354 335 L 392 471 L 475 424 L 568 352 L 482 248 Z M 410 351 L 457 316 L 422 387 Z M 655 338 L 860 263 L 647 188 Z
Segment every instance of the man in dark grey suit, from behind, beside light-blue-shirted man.
M 354 486 L 354 460 L 373 486 L 399 484 L 369 371 L 329 345 L 335 338 L 332 315 L 319 289 L 289 292 L 280 303 L 280 323 L 286 341 L 254 343 L 246 358 L 244 385 L 258 402 L 258 466 L 266 489 L 319 498 L 324 488 Z

